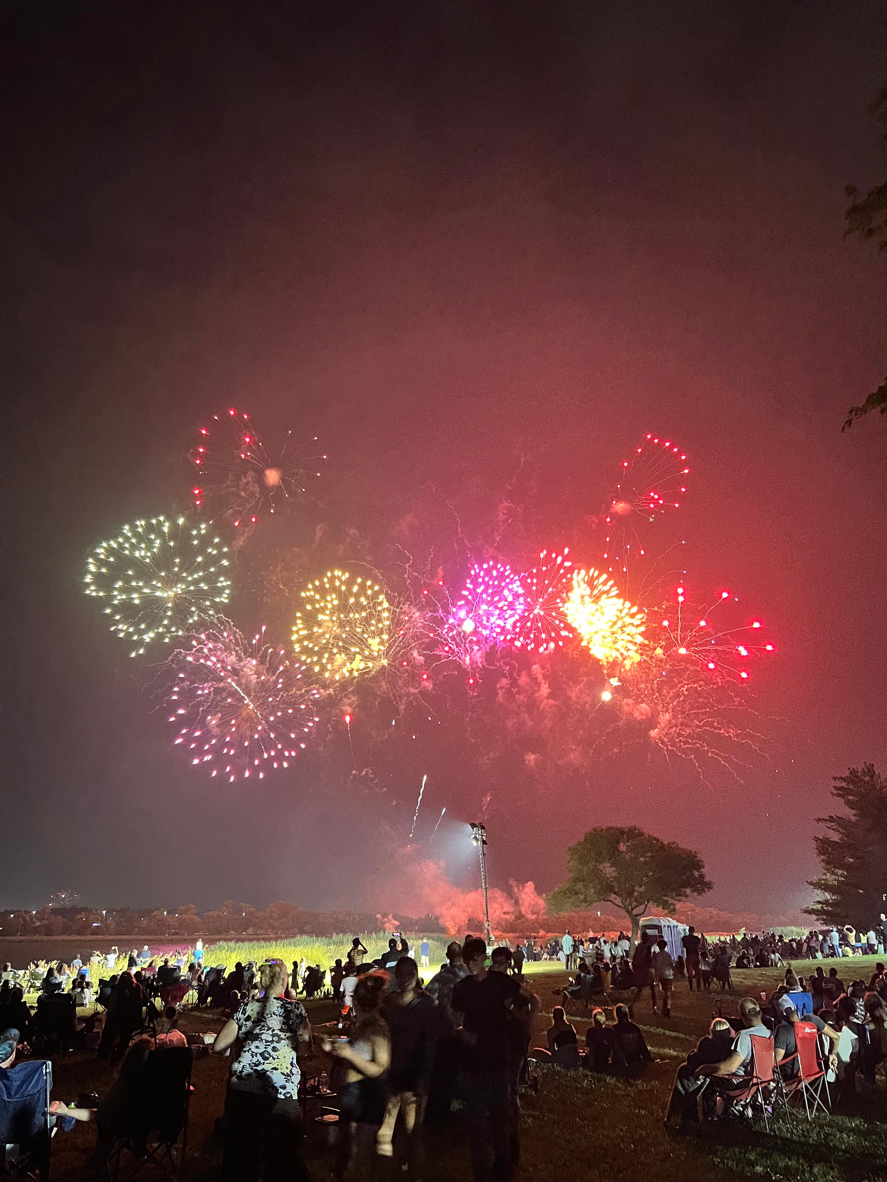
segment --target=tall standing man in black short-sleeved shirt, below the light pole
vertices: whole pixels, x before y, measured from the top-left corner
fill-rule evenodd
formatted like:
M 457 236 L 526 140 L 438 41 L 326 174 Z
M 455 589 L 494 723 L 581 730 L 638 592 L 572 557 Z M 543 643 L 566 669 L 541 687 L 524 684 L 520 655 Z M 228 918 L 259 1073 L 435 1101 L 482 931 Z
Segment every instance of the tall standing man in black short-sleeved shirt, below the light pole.
M 507 1178 L 513 1169 L 517 1131 L 512 1126 L 509 1072 L 509 1011 L 520 986 L 505 973 L 486 969 L 486 943 L 468 936 L 462 946 L 468 976 L 453 989 L 461 1014 L 465 1106 L 474 1182 Z M 492 1163 L 492 1175 L 491 1175 Z

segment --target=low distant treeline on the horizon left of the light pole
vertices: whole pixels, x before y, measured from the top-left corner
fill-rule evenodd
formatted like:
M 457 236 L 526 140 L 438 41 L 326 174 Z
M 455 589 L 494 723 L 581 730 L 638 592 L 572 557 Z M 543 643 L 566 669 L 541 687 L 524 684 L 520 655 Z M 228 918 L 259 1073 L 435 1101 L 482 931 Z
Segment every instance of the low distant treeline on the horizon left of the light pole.
M 306 911 L 294 903 L 271 903 L 264 911 L 231 900 L 218 911 L 198 911 L 193 903 L 161 910 L 121 907 L 95 910 L 86 907 L 44 907 L 39 911 L 0 911 L 0 939 L 6 936 L 331 936 L 348 931 L 377 931 L 388 927 L 387 916 L 360 911 Z M 400 916 L 408 930 L 440 933 L 433 916 Z

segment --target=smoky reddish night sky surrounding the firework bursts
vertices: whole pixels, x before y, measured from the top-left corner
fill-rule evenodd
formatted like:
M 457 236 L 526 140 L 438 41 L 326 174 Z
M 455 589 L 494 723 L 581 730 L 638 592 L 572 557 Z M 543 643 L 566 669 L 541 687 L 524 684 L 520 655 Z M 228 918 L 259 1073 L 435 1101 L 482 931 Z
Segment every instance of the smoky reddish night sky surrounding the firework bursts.
M 550 890 L 585 829 L 639 824 L 700 850 L 706 903 L 803 905 L 831 775 L 887 766 L 887 429 L 841 434 L 887 371 L 887 261 L 842 238 L 844 186 L 887 170 L 887 6 L 19 2 L 1 38 L 0 900 L 406 909 L 427 772 L 416 836 L 446 805 L 458 882 L 490 794 L 498 885 Z M 337 563 L 410 514 L 480 545 L 506 498 L 527 546 L 570 541 L 673 436 L 662 541 L 778 639 L 769 759 L 491 780 L 420 738 L 363 792 L 339 727 L 248 788 L 193 771 L 82 579 L 187 500 L 228 405 L 319 437 L 321 505 L 280 528 L 324 522 Z

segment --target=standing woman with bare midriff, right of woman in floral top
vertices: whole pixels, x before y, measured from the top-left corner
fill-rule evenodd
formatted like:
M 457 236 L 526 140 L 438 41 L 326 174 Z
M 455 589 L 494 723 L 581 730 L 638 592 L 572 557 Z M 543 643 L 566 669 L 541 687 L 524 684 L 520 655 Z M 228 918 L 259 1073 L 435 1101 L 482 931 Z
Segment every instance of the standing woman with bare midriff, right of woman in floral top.
M 364 973 L 354 992 L 355 1022 L 347 1043 L 323 1039 L 322 1047 L 342 1060 L 344 1086 L 339 1100 L 336 1180 L 348 1173 L 360 1126 L 377 1130 L 384 1119 L 386 1097 L 382 1076 L 391 1061 L 391 1040 L 382 1019 L 382 995 L 388 987 L 387 973 Z

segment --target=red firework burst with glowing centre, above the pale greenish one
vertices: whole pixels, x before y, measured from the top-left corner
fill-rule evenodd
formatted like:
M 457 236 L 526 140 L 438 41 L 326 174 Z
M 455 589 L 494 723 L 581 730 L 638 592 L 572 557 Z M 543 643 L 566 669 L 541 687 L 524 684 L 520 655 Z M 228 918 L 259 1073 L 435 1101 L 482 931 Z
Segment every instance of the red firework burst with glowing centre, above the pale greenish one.
M 188 453 L 198 482 L 192 488 L 195 506 L 227 518 L 232 525 L 254 525 L 263 513 L 273 513 L 305 492 L 317 463 L 326 456 L 310 456 L 290 447 L 292 431 L 279 452 L 268 453 L 250 416 L 233 407 L 213 415 L 200 428 L 200 441 Z M 317 440 L 311 440 L 316 443 Z

